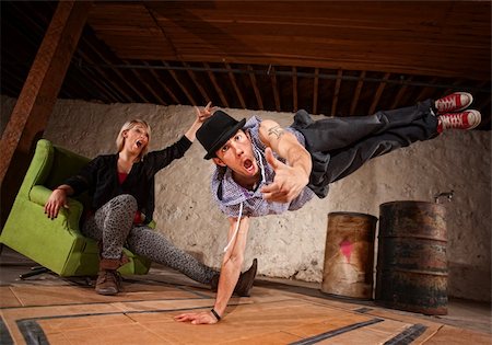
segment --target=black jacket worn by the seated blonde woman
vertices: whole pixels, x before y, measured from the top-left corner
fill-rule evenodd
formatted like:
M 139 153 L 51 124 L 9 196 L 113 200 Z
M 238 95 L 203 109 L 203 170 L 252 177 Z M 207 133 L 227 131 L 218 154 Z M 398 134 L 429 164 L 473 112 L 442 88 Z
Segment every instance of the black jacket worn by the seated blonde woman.
M 183 136 L 163 150 L 149 152 L 143 160 L 133 164 L 122 184 L 118 181 L 117 153 L 97 156 L 65 183 L 73 188 L 74 196 L 89 192 L 92 211 L 118 195 L 130 194 L 137 199 L 139 210 L 145 215 L 144 222 L 149 223 L 155 205 L 154 175 L 173 160 L 181 158 L 190 146 L 191 141 Z

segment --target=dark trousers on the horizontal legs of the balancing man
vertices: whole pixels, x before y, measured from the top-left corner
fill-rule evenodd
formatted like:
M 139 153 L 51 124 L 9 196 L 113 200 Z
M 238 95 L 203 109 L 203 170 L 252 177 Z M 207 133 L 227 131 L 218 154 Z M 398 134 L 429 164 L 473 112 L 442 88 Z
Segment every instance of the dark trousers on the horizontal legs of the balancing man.
M 313 170 L 308 187 L 326 197 L 329 184 L 356 171 L 374 157 L 437 136 L 434 101 L 377 112 L 371 116 L 328 117 L 314 122 L 305 111 L 293 128 L 306 139 Z

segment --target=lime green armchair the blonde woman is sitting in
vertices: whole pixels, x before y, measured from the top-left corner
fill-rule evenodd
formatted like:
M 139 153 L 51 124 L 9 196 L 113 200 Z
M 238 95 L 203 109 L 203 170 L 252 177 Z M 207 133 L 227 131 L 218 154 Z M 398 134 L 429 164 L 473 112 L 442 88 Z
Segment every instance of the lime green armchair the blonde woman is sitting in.
M 69 208 L 49 219 L 44 205 L 51 189 L 67 177 L 77 174 L 89 159 L 52 145 L 46 139 L 37 142 L 9 218 L 0 235 L 0 243 L 30 257 L 60 276 L 96 275 L 98 246 L 84 237 L 79 228 L 87 195 L 69 198 Z M 119 268 L 122 275 L 147 274 L 151 262 L 124 249 L 130 262 Z

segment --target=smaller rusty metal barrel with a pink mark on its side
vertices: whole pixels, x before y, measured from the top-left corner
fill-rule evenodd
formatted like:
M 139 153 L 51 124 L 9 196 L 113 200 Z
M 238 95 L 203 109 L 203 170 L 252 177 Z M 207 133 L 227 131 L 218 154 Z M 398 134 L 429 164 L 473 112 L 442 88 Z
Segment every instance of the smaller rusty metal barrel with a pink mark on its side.
M 373 298 L 374 240 L 377 218 L 330 212 L 321 291 L 354 299 Z

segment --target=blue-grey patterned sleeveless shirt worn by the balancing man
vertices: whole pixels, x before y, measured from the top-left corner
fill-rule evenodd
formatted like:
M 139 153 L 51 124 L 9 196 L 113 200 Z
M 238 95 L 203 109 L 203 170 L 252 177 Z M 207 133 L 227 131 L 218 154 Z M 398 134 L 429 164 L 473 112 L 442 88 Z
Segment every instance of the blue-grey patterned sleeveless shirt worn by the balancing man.
M 243 216 L 260 217 L 267 215 L 280 215 L 286 210 L 300 209 L 315 195 L 308 187 L 305 187 L 291 203 L 268 203 L 263 199 L 260 192 L 261 187 L 273 182 L 276 172 L 265 158 L 266 146 L 259 139 L 260 123 L 261 119 L 259 117 L 253 116 L 243 128 L 243 130 L 249 133 L 251 137 L 254 154 L 261 170 L 261 182 L 255 191 L 248 191 L 238 185 L 234 181 L 232 171 L 229 168 L 216 165 L 215 172 L 212 175 L 213 198 L 219 204 L 222 212 L 229 217 L 239 216 L 241 204 L 243 204 Z M 286 130 L 291 131 L 297 138 L 298 142 L 305 146 L 304 137 L 300 131 L 293 128 L 286 128 Z M 284 159 L 278 158 L 276 153 L 273 154 L 280 161 L 285 162 Z M 263 169 L 261 169 L 261 166 Z

